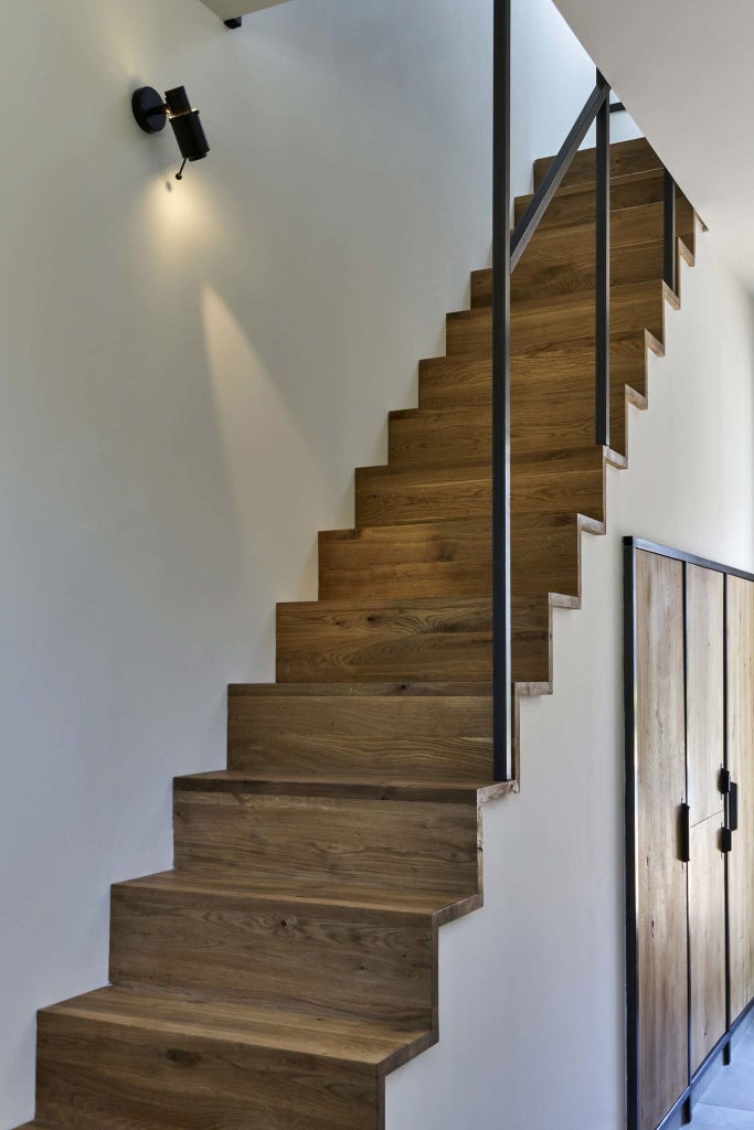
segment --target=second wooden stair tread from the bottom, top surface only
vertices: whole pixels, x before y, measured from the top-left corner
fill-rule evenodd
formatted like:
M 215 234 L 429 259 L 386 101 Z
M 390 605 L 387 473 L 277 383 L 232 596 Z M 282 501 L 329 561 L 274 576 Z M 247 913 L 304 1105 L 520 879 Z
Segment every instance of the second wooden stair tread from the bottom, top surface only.
M 213 872 L 211 877 L 191 870 L 162 871 L 140 879 L 129 879 L 119 887 L 137 888 L 153 894 L 176 898 L 207 897 L 234 904 L 270 905 L 287 907 L 292 913 L 296 906 L 306 907 L 355 907 L 358 910 L 389 911 L 397 914 L 431 914 L 447 919 L 458 916 L 468 909 L 479 905 L 479 896 L 460 890 L 400 890 L 380 887 L 376 884 L 321 884 L 307 880 L 305 876 L 292 876 L 285 884 L 259 879 L 253 885 L 240 884 L 237 875 Z

